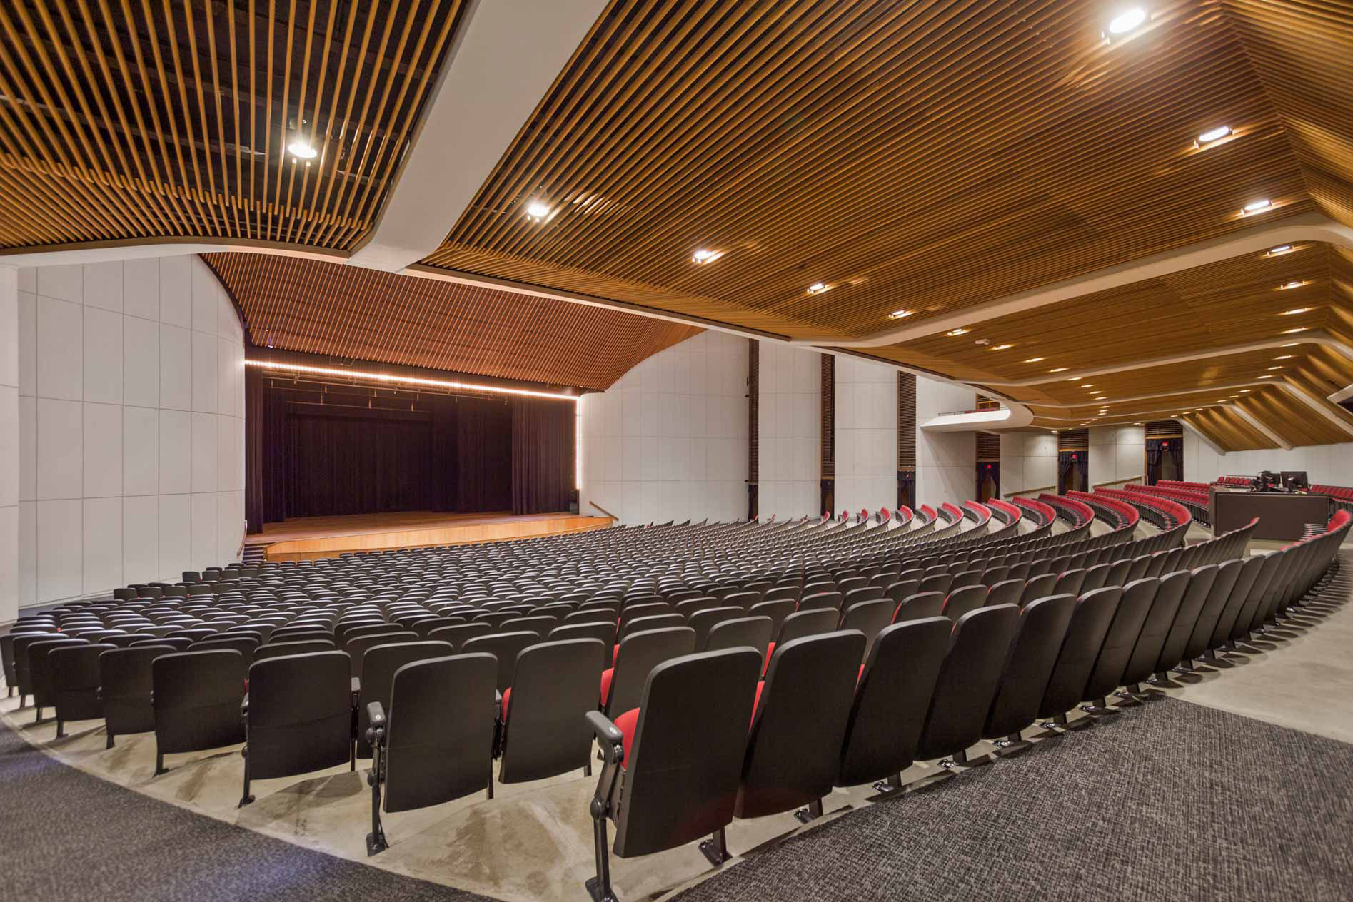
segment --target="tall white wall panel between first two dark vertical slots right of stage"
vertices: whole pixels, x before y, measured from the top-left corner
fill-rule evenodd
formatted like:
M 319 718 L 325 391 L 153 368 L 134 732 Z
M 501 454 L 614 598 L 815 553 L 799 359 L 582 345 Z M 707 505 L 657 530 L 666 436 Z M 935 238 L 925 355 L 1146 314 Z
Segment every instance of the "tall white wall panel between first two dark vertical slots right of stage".
M 820 514 L 821 354 L 759 341 L 758 513 Z

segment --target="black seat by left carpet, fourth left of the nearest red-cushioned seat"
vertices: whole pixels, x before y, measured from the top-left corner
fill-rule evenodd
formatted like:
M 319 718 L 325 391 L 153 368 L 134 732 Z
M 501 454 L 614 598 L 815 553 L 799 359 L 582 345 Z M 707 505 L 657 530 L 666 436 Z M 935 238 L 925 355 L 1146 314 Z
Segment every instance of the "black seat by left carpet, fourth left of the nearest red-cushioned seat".
M 165 772 L 165 755 L 244 741 L 239 702 L 248 673 L 234 649 L 160 655 L 150 663 L 157 776 Z

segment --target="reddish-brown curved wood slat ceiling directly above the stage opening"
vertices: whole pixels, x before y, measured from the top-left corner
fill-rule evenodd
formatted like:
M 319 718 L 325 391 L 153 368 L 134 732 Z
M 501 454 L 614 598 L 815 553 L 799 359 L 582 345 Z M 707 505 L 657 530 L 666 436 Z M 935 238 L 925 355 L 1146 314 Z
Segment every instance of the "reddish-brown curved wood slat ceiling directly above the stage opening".
M 203 254 L 281 348 L 547 385 L 605 389 L 701 330 L 606 307 L 269 254 Z

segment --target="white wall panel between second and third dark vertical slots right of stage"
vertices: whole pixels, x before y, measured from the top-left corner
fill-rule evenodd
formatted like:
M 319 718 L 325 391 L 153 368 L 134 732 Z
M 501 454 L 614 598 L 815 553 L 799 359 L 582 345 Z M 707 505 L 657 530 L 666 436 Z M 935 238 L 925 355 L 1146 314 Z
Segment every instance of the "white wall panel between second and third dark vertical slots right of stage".
M 835 422 L 836 511 L 896 507 L 897 371 L 838 356 Z

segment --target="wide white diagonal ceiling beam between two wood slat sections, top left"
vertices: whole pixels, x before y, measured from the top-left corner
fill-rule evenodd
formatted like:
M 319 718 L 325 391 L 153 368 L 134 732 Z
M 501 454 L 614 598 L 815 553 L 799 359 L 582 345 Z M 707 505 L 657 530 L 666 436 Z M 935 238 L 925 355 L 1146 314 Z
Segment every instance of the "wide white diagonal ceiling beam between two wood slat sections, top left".
M 349 262 L 400 272 L 441 245 L 606 0 L 469 0 L 376 227 Z

